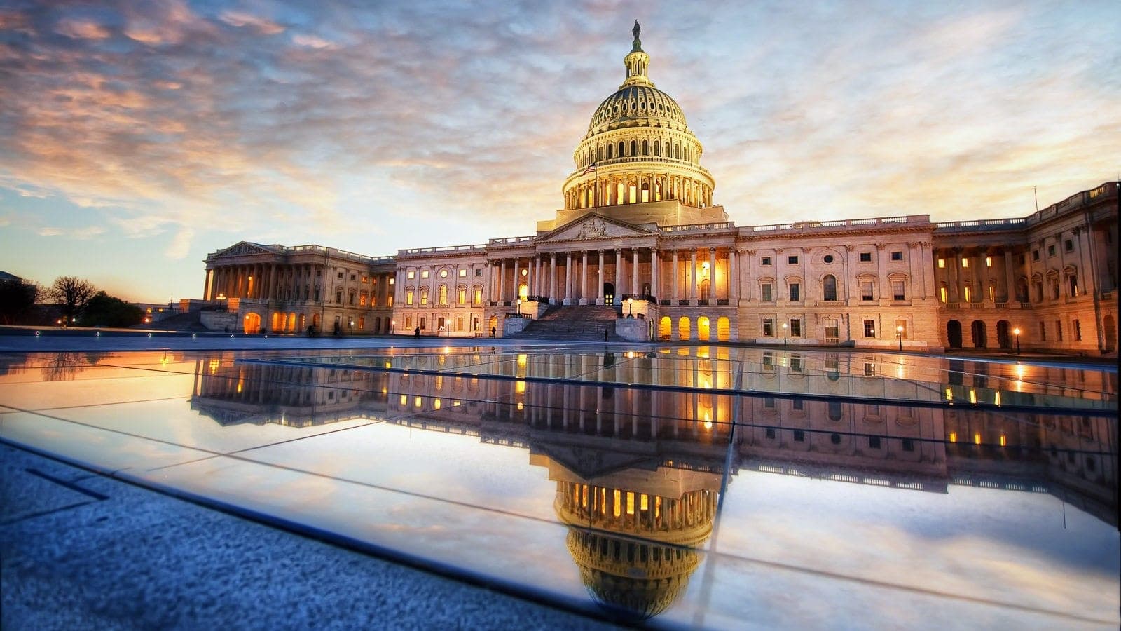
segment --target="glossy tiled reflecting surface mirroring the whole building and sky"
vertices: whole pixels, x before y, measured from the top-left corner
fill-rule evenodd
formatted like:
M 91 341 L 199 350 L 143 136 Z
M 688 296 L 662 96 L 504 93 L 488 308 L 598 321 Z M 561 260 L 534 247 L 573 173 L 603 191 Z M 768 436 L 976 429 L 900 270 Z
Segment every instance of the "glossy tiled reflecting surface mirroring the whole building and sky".
M 0 356 L 0 437 L 665 627 L 1117 627 L 1117 372 L 660 347 Z

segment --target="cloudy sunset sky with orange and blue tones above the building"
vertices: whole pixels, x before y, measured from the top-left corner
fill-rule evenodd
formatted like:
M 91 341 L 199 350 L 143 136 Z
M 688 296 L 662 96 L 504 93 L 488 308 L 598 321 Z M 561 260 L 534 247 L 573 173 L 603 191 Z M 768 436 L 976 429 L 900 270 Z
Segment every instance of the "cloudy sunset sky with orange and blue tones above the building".
M 0 7 L 0 269 L 200 298 L 241 239 L 531 234 L 642 22 L 741 226 L 1025 216 L 1121 171 L 1121 3 Z

